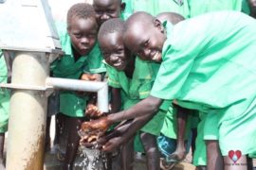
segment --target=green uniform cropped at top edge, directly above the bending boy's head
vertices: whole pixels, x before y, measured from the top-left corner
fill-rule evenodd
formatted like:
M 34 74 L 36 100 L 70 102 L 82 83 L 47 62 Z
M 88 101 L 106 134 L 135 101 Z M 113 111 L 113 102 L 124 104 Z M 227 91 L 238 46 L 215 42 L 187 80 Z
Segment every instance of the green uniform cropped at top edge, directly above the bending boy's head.
M 185 18 L 190 15 L 187 0 L 126 0 L 124 2 L 126 3 L 124 12 L 131 14 L 137 11 L 146 11 L 157 15 L 160 12 L 170 11 L 179 13 Z

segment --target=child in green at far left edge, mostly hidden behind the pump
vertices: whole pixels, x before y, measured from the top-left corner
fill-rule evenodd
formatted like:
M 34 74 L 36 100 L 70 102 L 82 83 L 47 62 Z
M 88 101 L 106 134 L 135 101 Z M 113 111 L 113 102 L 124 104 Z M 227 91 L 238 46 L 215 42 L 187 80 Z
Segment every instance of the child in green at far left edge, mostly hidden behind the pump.
M 2 50 L 0 50 L 0 83 L 8 80 L 8 69 Z M 0 169 L 4 167 L 5 132 L 8 129 L 9 119 L 9 91 L 0 88 Z

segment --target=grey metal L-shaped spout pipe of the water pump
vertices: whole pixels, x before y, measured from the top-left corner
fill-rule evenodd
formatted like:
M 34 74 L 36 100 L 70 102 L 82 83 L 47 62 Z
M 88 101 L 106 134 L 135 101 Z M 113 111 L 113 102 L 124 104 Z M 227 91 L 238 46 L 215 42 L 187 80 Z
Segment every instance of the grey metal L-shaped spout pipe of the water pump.
M 98 93 L 98 108 L 103 112 L 108 111 L 108 85 L 107 82 L 83 81 L 77 79 L 47 77 L 46 86 L 54 89 L 69 91 L 84 91 Z

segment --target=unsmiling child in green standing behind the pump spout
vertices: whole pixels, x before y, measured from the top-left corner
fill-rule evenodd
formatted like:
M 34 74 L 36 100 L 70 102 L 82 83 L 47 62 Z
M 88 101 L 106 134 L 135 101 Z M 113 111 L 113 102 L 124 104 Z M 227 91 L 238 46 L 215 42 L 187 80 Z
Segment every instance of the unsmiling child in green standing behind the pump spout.
M 52 64 L 53 76 L 80 79 L 83 73 L 97 74 L 105 71 L 101 67 L 101 58 L 94 56 L 97 52 L 95 42 L 98 24 L 91 5 L 73 5 L 67 12 L 67 26 L 58 23 L 57 29 L 65 55 Z M 60 111 L 65 115 L 68 125 L 64 169 L 72 169 L 80 140 L 78 130 L 85 119 L 84 108 L 90 100 L 94 98 L 85 93 L 60 94 Z

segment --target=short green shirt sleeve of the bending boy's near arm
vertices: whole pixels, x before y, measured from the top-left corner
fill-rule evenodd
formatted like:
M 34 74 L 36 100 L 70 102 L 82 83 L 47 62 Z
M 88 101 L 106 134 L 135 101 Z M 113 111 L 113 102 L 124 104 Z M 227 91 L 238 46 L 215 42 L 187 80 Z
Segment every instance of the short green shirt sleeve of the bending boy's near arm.
M 197 32 L 204 33 L 204 28 L 188 26 L 174 26 L 172 35 L 164 43 L 162 63 L 155 78 L 151 95 L 162 99 L 174 99 L 182 94 L 181 89 L 186 89 L 186 80 L 192 74 L 194 59 L 200 56 L 209 38 Z M 196 35 L 196 39 L 193 35 Z

